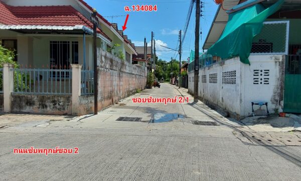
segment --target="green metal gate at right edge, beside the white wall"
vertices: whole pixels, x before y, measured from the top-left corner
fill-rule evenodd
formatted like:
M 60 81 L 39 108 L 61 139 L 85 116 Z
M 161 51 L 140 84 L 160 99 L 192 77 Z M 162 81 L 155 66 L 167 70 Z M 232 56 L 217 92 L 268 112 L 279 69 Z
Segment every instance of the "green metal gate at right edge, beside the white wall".
M 301 113 L 301 55 L 286 56 L 283 111 Z

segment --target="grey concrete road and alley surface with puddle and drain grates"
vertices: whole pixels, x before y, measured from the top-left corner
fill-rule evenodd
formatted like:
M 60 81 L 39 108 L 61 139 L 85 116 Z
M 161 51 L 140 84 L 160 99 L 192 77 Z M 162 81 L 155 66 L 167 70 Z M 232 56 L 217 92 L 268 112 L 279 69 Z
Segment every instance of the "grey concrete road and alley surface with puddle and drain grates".
M 132 103 L 149 96 L 190 103 Z M 162 83 L 97 116 L 2 115 L 0 180 L 300 180 L 300 132 L 254 131 L 192 101 Z M 179 118 L 152 123 L 171 113 Z M 14 154 L 31 146 L 78 147 L 78 154 Z

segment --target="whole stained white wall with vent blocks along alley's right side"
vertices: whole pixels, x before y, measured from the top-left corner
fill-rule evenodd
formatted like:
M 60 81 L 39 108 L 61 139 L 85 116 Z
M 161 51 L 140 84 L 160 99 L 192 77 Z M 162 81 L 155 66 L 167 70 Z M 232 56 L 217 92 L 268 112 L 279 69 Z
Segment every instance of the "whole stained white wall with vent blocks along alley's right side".
M 243 64 L 236 57 L 201 68 L 200 100 L 237 119 L 252 114 L 251 102 L 267 102 L 270 113 L 282 111 L 285 56 L 251 55 L 249 61 L 251 65 Z M 194 72 L 188 76 L 189 93 L 193 94 Z M 254 106 L 254 110 L 258 108 Z

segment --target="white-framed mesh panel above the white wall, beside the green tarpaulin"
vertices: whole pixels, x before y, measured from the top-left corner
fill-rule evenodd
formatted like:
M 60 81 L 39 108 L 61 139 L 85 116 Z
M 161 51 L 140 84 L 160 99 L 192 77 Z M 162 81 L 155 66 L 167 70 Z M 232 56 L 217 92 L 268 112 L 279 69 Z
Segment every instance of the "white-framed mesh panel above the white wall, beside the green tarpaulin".
M 289 21 L 263 22 L 252 42 L 251 55 L 287 55 Z

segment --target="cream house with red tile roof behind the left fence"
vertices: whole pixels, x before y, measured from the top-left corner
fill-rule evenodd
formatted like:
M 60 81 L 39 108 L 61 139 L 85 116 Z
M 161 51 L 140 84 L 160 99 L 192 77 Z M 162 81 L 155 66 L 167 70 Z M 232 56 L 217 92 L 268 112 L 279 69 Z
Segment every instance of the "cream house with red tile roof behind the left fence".
M 101 10 L 100 10 L 101 11 Z M 0 0 L 0 41 L 15 49 L 23 67 L 65 68 L 82 64 L 93 67 L 92 8 L 82 0 Z M 97 14 L 97 47 L 119 44 L 129 63 L 134 45 L 122 31 Z

